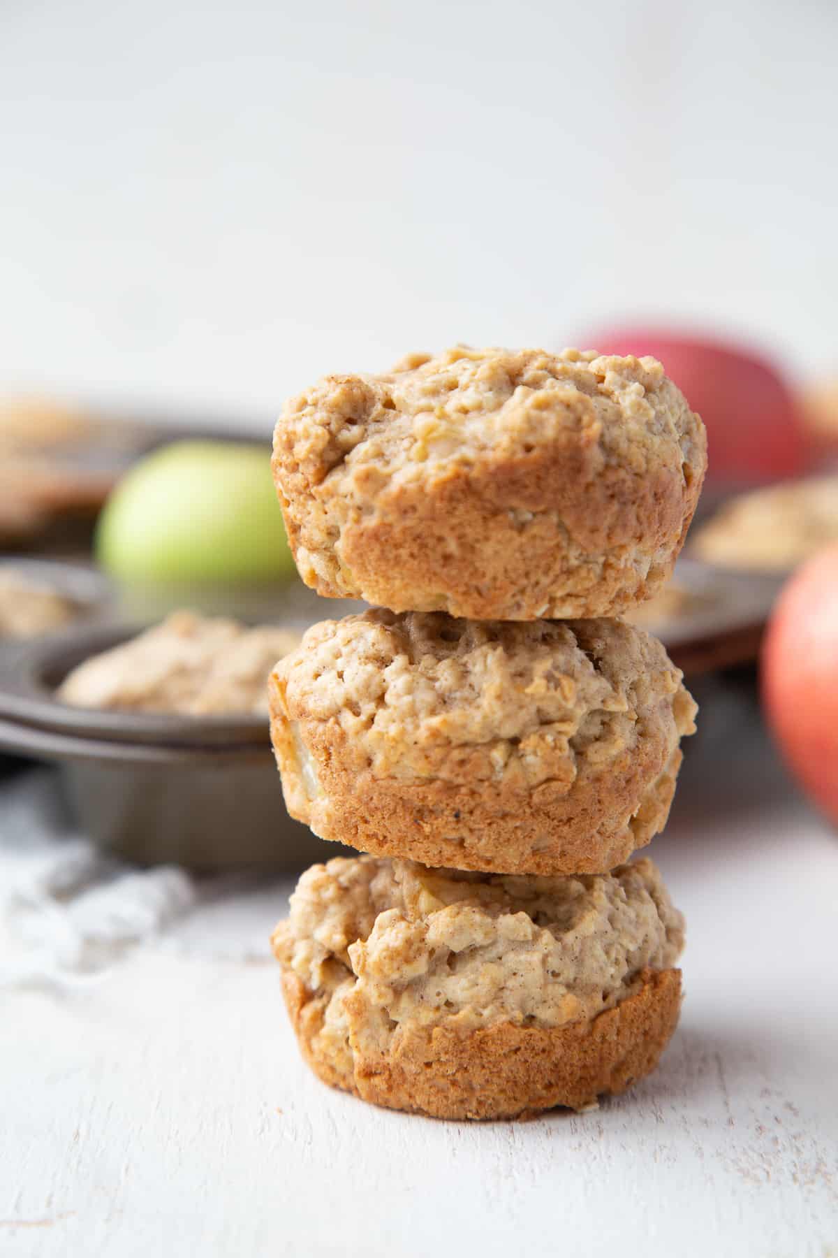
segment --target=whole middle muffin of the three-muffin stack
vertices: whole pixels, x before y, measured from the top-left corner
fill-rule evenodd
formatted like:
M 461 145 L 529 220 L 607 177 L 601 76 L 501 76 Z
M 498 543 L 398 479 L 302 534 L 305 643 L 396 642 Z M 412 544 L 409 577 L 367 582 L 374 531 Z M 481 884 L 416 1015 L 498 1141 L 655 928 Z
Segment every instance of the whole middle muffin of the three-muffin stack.
M 291 816 L 373 855 L 601 873 L 666 824 L 696 704 L 621 620 L 324 620 L 271 677 Z

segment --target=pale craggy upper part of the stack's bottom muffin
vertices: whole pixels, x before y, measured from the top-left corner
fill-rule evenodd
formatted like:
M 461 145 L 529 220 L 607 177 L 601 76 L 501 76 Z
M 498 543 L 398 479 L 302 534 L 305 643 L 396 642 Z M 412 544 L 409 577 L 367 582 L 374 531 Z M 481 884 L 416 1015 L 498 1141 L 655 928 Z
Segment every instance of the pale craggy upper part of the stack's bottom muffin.
M 648 859 L 545 878 L 338 858 L 303 874 L 274 936 L 309 991 L 334 994 L 335 1030 L 352 995 L 356 1020 L 367 1010 L 357 1033 L 382 1047 L 406 1021 L 456 1016 L 469 1030 L 593 1018 L 682 947 L 683 918 Z

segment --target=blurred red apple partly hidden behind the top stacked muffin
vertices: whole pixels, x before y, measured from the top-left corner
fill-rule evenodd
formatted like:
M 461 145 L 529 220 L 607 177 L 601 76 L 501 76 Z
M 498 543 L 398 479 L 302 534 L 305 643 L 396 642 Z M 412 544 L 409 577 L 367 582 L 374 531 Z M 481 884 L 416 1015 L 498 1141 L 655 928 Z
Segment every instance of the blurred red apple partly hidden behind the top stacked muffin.
M 604 328 L 588 340 L 602 353 L 651 353 L 663 364 L 707 426 L 711 481 L 779 479 L 805 467 L 794 398 L 780 372 L 753 351 L 641 326 Z

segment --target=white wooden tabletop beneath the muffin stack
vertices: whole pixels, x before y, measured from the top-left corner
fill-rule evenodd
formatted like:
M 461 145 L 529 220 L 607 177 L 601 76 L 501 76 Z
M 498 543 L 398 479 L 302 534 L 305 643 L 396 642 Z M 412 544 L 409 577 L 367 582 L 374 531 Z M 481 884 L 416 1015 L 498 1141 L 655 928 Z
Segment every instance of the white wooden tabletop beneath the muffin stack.
M 234 888 L 93 981 L 3 996 L 0 1254 L 838 1253 L 838 835 L 715 732 L 653 844 L 686 1001 L 633 1092 L 460 1125 L 328 1091 L 268 957 L 289 883 Z

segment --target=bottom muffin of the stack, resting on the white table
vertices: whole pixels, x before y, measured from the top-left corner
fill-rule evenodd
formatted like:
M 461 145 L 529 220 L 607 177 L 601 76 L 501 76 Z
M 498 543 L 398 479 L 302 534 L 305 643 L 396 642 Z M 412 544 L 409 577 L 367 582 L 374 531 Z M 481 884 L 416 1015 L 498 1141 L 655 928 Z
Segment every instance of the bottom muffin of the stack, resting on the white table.
M 580 1110 L 648 1074 L 682 946 L 648 859 L 549 878 L 338 858 L 302 876 L 273 936 L 315 1074 L 437 1118 Z

